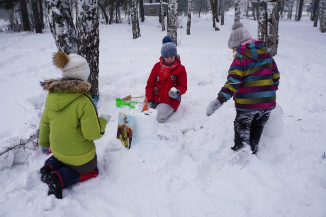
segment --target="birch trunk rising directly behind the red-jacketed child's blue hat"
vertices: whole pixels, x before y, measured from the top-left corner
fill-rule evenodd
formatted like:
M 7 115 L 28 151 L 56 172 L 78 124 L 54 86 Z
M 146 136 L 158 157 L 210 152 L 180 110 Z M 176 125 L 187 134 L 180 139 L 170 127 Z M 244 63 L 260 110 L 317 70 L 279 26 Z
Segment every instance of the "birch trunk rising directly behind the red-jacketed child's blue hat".
M 178 0 L 168 0 L 168 22 L 167 32 L 175 45 L 178 45 Z

